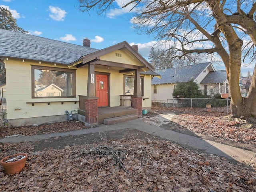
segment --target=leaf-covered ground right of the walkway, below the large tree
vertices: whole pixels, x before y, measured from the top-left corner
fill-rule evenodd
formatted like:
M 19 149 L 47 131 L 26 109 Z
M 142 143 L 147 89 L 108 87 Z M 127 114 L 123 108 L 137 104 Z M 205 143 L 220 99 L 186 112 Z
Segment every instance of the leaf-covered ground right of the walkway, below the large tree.
M 173 112 L 174 130 L 190 131 L 216 138 L 239 142 L 248 146 L 247 150 L 256 148 L 256 125 L 237 118 L 228 118 L 227 113 L 205 112 L 202 108 L 165 108 L 158 113 Z M 156 114 L 154 114 L 156 115 Z M 172 124 L 170 125 L 172 126 Z

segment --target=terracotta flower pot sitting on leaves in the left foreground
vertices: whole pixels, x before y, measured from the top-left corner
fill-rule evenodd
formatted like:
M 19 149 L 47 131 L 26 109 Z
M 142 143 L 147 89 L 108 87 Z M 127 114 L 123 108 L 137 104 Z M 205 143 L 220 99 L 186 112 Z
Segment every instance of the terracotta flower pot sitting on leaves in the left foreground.
M 6 162 L 7 159 L 15 158 L 19 155 L 25 156 L 25 158 L 13 162 Z M 1 160 L 1 164 L 4 167 L 4 172 L 6 172 L 7 174 L 15 174 L 16 172 L 20 172 L 26 164 L 27 156 L 28 154 L 26 153 L 17 153 L 3 158 Z

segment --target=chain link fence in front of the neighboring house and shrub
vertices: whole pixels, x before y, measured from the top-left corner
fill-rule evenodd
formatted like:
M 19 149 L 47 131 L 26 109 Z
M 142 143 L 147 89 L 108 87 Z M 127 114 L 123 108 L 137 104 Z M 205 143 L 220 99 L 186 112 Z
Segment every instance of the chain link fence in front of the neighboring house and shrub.
M 183 99 L 168 99 L 154 100 L 152 106 L 159 107 L 183 107 L 183 108 L 205 108 L 206 104 L 211 104 L 212 112 L 230 111 L 230 99 L 207 99 L 207 98 L 183 98 Z

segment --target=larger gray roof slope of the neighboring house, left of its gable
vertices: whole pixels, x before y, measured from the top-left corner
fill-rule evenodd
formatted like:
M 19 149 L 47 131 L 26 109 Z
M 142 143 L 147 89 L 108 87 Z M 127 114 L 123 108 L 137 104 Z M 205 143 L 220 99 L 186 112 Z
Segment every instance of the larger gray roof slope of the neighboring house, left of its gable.
M 154 77 L 152 84 L 188 82 L 191 78 L 196 79 L 210 64 L 210 62 L 207 62 L 165 70 L 156 70 L 155 72 L 161 75 L 161 79 Z

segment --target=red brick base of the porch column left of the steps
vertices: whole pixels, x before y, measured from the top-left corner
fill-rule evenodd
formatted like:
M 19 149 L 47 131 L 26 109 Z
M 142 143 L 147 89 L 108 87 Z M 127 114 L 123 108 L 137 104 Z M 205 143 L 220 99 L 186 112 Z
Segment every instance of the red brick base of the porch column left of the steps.
M 98 125 L 98 98 L 85 99 L 85 125 Z

